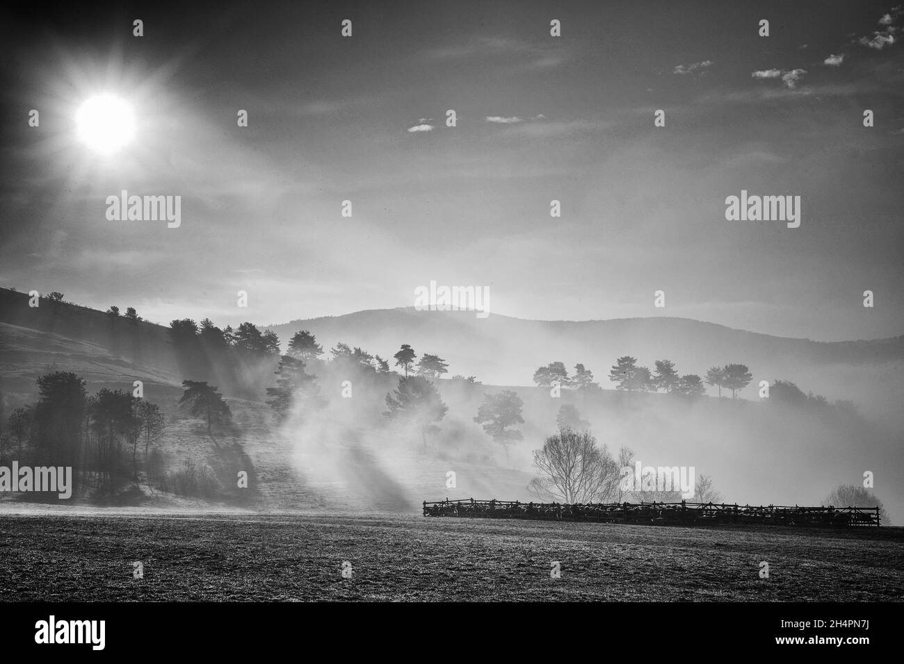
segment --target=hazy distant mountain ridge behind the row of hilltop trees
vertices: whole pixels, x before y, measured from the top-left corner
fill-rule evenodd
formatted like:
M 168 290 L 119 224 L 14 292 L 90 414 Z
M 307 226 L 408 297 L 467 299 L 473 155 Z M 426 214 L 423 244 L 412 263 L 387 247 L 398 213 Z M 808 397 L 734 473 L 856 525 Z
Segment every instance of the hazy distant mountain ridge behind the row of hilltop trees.
M 300 319 L 268 329 L 284 342 L 306 329 L 325 350 L 344 341 L 384 358 L 391 358 L 401 343 L 409 343 L 419 354 L 445 358 L 450 373 L 473 374 L 487 383 L 504 385 L 530 385 L 534 369 L 560 360 L 570 370 L 583 363 L 607 388 L 611 387 L 607 373 L 616 358 L 632 355 L 651 369 L 654 360 L 667 358 L 681 373 L 700 376 L 712 366 L 740 362 L 749 366 L 756 382 L 791 379 L 805 390 L 834 390 L 826 396 L 844 398 L 847 390 L 841 383 L 854 377 L 840 380 L 843 368 L 881 374 L 882 368 L 904 366 L 904 335 L 875 341 L 810 341 L 665 316 L 531 321 L 497 314 L 477 319 L 473 312 L 409 307 Z

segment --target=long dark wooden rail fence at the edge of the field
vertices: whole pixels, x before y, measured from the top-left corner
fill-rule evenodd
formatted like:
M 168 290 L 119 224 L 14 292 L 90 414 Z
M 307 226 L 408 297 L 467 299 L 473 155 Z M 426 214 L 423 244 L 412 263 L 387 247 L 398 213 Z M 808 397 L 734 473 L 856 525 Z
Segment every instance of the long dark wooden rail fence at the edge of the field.
M 470 519 L 543 519 L 599 523 L 775 524 L 830 528 L 879 528 L 878 507 L 794 507 L 714 502 L 521 502 L 519 500 L 424 500 L 425 517 Z

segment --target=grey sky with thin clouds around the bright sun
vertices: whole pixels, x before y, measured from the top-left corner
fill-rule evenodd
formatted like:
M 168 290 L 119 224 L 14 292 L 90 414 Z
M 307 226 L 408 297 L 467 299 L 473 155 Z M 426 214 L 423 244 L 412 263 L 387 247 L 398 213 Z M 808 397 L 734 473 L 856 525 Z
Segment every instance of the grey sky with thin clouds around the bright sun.
M 436 281 L 529 319 L 904 333 L 899 5 L 186 5 L 3 10 L 0 285 L 163 324 Z M 115 154 L 78 136 L 99 94 L 134 108 Z M 108 220 L 122 190 L 181 196 L 179 227 Z M 742 190 L 799 195 L 800 227 L 726 220 Z

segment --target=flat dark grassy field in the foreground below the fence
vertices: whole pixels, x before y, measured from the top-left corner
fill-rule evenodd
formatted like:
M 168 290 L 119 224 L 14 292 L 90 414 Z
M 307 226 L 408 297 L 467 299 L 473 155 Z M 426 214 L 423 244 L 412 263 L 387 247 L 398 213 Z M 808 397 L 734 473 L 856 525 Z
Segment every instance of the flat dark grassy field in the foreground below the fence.
M 0 573 L 4 601 L 901 601 L 904 529 L 7 513 Z

